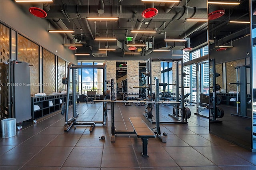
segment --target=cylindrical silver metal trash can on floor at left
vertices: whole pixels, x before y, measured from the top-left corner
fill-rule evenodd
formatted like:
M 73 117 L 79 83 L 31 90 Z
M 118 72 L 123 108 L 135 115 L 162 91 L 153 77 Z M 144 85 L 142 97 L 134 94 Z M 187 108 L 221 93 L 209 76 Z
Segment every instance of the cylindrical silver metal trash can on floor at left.
M 16 119 L 8 118 L 1 121 L 2 138 L 10 138 L 16 135 Z

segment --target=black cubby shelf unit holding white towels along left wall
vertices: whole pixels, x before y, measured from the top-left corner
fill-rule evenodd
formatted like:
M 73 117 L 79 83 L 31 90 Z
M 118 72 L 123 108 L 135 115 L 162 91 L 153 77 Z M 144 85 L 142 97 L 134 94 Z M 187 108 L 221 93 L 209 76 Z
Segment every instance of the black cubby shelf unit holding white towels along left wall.
M 73 105 L 72 99 L 72 94 L 70 94 L 68 105 Z M 32 120 L 60 110 L 60 105 L 64 102 L 66 102 L 66 94 L 31 97 Z M 34 105 L 39 106 L 40 109 L 34 111 Z

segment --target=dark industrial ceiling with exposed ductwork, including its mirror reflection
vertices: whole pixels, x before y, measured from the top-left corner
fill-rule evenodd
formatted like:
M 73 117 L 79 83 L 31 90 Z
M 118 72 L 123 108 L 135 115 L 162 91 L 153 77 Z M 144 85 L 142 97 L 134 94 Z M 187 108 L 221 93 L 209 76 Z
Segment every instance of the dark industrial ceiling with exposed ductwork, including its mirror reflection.
M 234 0 L 236 1 L 236 0 Z M 239 1 L 246 2 L 246 1 Z M 26 4 L 26 8 L 32 4 Z M 38 5 L 36 5 L 38 6 Z M 74 30 L 64 35 L 65 43 L 83 43 L 76 53 L 93 53 L 99 48 L 112 47 L 118 53 L 129 52 L 127 44 L 149 43 L 152 49 L 182 50 L 186 42 L 168 42 L 164 38 L 195 39 L 208 30 L 207 22 L 186 21 L 186 18 L 208 18 L 207 0 L 180 0 L 180 2 L 142 2 L 142 0 L 54 0 L 42 6 L 50 22 L 50 30 Z M 156 16 L 145 18 L 158 10 Z M 248 16 L 248 3 L 239 6 L 222 6 L 225 14 L 209 22 L 209 36 L 220 40 L 244 29 L 244 25 L 228 24 Z M 118 17 L 116 21 L 87 20 L 87 17 Z M 226 27 L 228 26 L 228 27 Z M 132 30 L 156 33 L 132 33 Z M 213 30 L 213 31 L 212 31 Z M 127 41 L 126 37 L 133 37 Z M 94 38 L 116 38 L 117 41 L 96 41 Z M 151 46 L 150 46 L 151 45 Z M 139 48 L 139 47 L 138 47 Z M 138 49 L 137 49 L 138 50 Z M 142 47 L 142 52 L 147 51 Z

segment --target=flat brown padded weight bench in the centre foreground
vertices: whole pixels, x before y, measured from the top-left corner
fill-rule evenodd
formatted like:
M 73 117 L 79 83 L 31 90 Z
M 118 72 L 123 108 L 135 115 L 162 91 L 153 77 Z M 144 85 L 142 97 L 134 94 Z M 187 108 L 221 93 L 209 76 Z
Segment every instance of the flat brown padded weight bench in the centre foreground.
M 142 140 L 143 152 L 142 156 L 148 156 L 148 138 L 156 138 L 156 134 L 146 125 L 140 117 L 129 117 L 129 120 L 137 134 Z

